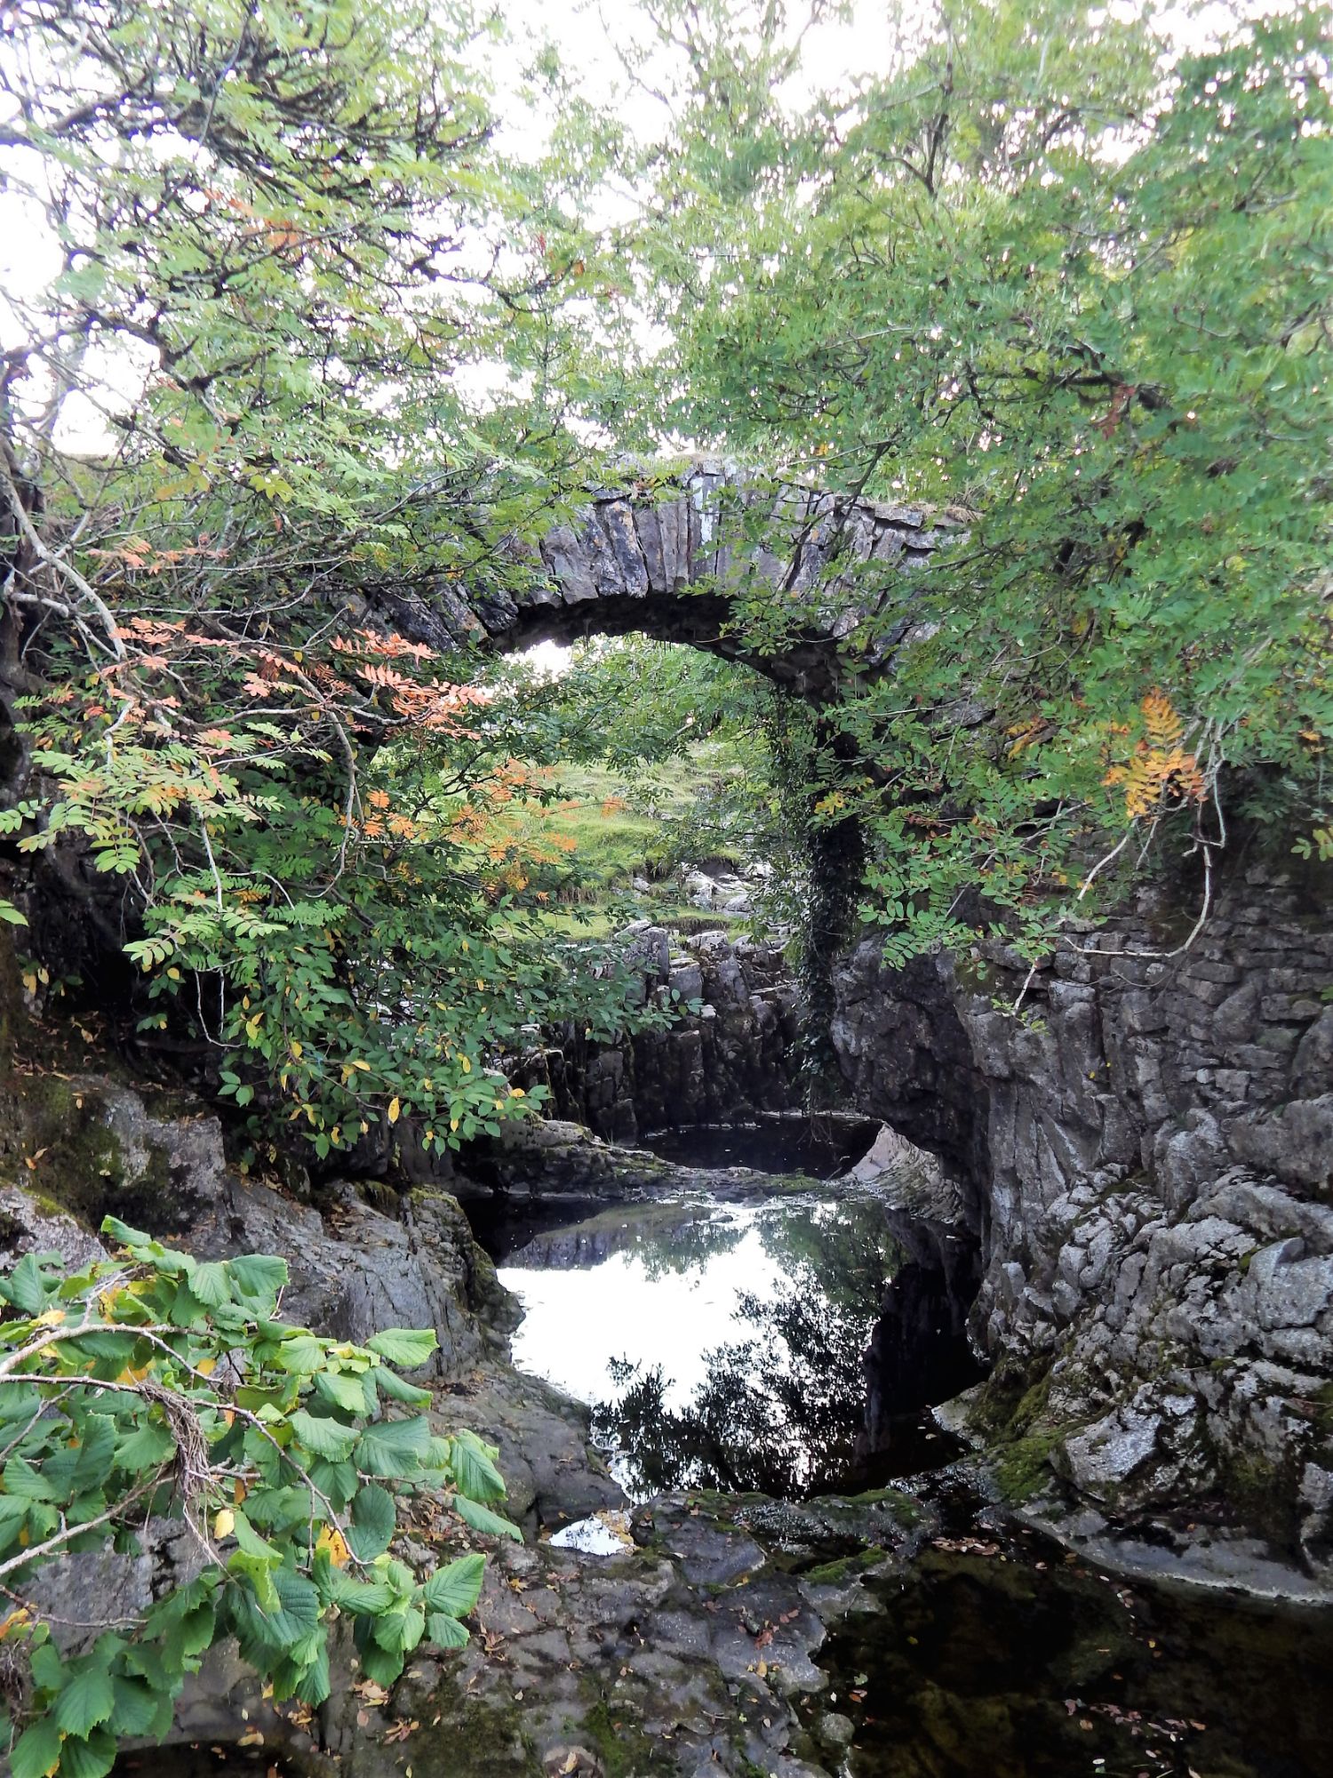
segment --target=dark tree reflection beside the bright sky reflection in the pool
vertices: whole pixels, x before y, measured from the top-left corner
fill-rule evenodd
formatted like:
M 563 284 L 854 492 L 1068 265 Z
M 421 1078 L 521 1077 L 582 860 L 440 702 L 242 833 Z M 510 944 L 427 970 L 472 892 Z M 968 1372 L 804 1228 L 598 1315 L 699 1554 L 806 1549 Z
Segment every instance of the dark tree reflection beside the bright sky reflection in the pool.
M 620 1394 L 594 1408 L 594 1433 L 627 1454 L 635 1492 L 818 1494 L 853 1469 L 862 1358 L 899 1248 L 873 1202 L 810 1214 L 775 1207 L 761 1236 L 782 1291 L 739 1298 L 745 1335 L 707 1353 L 707 1376 L 684 1408 L 668 1405 L 661 1366 L 613 1367 Z

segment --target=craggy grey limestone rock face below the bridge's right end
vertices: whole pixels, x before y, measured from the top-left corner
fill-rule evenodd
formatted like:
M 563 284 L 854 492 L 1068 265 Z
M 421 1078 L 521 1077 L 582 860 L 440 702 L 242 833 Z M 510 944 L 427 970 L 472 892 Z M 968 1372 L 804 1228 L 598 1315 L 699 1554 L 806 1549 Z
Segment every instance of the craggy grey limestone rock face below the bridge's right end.
M 1321 1561 L 1333 932 L 1262 866 L 1171 957 L 1164 916 L 1145 894 L 1072 935 L 1026 1017 L 999 1010 L 1027 973 L 999 946 L 894 973 L 866 941 L 834 1038 L 860 1108 L 963 1182 L 988 1433 L 1106 1510 L 1223 1502 Z

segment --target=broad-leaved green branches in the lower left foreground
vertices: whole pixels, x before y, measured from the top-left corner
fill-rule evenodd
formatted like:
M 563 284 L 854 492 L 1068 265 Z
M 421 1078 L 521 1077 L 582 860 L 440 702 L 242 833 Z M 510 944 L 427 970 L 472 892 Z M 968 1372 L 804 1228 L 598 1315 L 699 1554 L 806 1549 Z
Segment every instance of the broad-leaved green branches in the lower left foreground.
M 368 1678 L 391 1686 L 428 1638 L 457 1648 L 483 1558 L 419 1581 L 391 1554 L 400 1511 L 517 1538 L 494 1449 L 439 1438 L 400 1369 L 432 1332 L 366 1346 L 279 1317 L 286 1262 L 197 1262 L 107 1218 L 119 1252 L 76 1273 L 28 1255 L 0 1278 L 0 1741 L 14 1778 L 100 1778 L 128 1735 L 160 1739 L 188 1673 L 235 1636 L 281 1703 L 329 1696 L 329 1630 L 352 1622 Z M 53 1563 L 112 1543 L 192 1543 L 192 1577 L 82 1646 L 43 1609 Z M 96 1625 L 85 1627 L 96 1632 Z

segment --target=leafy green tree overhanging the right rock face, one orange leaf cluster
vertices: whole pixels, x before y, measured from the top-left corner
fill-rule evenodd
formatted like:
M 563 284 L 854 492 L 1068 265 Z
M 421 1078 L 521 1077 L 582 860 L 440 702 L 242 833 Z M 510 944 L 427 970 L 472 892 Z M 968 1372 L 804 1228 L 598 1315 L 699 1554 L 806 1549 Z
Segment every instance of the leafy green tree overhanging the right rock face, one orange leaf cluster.
M 965 0 L 802 110 L 784 9 L 654 16 L 682 73 L 624 236 L 668 340 L 645 427 L 967 519 L 832 713 L 823 814 L 866 818 L 889 955 L 986 909 L 1038 955 L 1164 850 L 1207 914 L 1239 821 L 1333 855 L 1319 9 L 1205 43 Z

